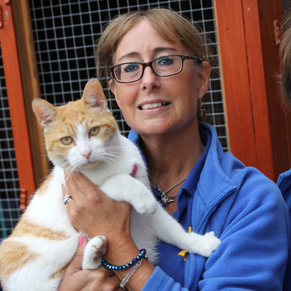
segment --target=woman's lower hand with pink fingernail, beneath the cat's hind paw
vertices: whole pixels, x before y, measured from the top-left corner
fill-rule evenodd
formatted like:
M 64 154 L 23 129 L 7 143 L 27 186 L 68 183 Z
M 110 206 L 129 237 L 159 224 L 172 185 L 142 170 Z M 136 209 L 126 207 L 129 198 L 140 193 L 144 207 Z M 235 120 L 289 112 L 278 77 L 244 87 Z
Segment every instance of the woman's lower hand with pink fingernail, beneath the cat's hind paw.
M 65 275 L 60 283 L 59 291 L 102 291 L 123 290 L 119 287 L 120 280 L 114 273 L 104 267 L 96 270 L 82 270 L 83 251 L 87 240 L 80 236 L 79 248 L 69 263 Z

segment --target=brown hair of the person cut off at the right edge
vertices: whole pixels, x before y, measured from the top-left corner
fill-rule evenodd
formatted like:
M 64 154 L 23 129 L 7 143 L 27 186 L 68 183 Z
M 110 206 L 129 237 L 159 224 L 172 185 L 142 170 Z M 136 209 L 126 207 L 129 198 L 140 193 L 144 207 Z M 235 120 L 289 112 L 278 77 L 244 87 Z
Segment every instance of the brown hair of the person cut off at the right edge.
M 291 11 L 284 23 L 286 30 L 281 38 L 280 58 L 281 58 L 281 78 L 280 90 L 283 103 L 291 107 Z

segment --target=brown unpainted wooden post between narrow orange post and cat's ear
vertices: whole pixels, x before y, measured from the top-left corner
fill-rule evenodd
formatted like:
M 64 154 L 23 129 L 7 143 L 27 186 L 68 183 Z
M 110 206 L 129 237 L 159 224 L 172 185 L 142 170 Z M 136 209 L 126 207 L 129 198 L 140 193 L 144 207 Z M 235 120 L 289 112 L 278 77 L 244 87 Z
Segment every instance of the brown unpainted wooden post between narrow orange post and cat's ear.
M 41 97 L 39 72 L 37 69 L 34 37 L 32 33 L 32 20 L 30 18 L 28 0 L 11 0 L 11 2 L 16 40 L 18 48 L 21 48 L 18 50 L 18 57 L 23 95 L 25 98 L 25 111 L 27 113 L 34 178 L 37 186 L 39 186 L 43 177 L 48 175 L 50 165 L 46 158 L 42 130 L 32 111 L 32 100 Z

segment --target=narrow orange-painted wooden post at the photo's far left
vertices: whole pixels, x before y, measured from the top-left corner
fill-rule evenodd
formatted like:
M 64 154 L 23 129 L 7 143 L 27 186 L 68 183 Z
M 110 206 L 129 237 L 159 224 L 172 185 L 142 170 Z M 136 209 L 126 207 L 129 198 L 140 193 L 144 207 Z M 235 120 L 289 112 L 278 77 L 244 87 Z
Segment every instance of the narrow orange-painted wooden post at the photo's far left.
M 6 80 L 8 104 L 11 115 L 11 125 L 15 147 L 18 180 L 20 185 L 20 208 L 24 208 L 27 197 L 34 193 L 34 168 L 29 142 L 25 98 L 23 95 L 20 63 L 9 0 L 0 0 L 1 28 L 0 43 Z

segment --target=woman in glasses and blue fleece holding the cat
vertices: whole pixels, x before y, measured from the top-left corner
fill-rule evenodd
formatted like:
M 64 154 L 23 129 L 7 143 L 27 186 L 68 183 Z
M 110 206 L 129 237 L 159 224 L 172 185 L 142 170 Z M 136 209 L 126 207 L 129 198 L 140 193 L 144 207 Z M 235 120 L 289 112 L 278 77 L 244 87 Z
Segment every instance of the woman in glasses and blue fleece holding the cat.
M 128 290 L 282 289 L 289 234 L 285 203 L 273 182 L 224 154 L 215 129 L 198 123 L 210 78 L 205 60 L 198 30 L 159 8 L 122 15 L 98 43 L 99 77 L 111 66 L 109 86 L 132 128 L 128 138 L 147 161 L 156 198 L 161 200 L 161 189 L 172 196 L 165 210 L 184 229 L 215 231 L 222 240 L 207 260 L 183 257 L 161 242 L 158 266 L 144 259 L 126 282 Z M 172 65 L 177 62 L 182 65 Z M 125 264 L 137 255 L 126 203 L 110 201 L 78 173 L 64 192 L 73 196 L 67 211 L 76 229 L 107 237 L 107 262 Z M 82 250 L 83 238 L 60 290 L 119 290 L 128 271 L 80 271 Z

